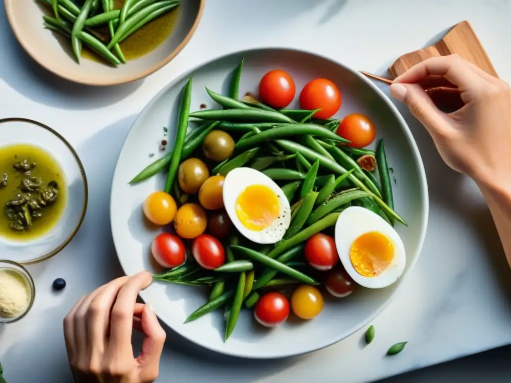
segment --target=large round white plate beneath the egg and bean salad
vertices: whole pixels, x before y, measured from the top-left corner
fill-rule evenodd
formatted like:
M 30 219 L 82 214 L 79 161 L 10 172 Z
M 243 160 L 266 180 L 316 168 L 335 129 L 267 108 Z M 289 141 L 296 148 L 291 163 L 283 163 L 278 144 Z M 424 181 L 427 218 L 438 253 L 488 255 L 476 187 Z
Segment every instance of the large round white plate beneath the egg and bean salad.
M 423 244 L 428 219 L 428 194 L 423 163 L 412 135 L 397 109 L 367 79 L 339 63 L 314 54 L 261 49 L 232 54 L 201 65 L 162 89 L 144 108 L 131 128 L 121 150 L 112 184 L 111 224 L 115 248 L 127 275 L 142 270 L 156 271 L 150 245 L 159 230 L 145 226 L 142 203 L 164 187 L 164 177 L 153 177 L 135 186 L 128 182 L 158 153 L 163 127 L 175 135 L 178 95 L 193 75 L 192 110 L 204 103 L 216 107 L 206 94 L 208 88 L 227 93 L 229 74 L 244 57 L 240 94 L 256 92 L 262 76 L 272 68 L 283 68 L 294 78 L 297 95 L 310 80 L 326 77 L 339 87 L 343 103 L 337 117 L 360 112 L 373 120 L 378 137 L 385 138 L 389 165 L 397 183 L 393 185 L 396 210 L 409 227 L 397 225 L 407 253 L 403 277 L 415 264 Z M 294 103 L 292 107 L 297 107 Z M 172 148 L 172 142 L 169 149 Z M 150 153 L 157 153 L 150 158 Z M 359 288 L 351 296 L 330 300 L 322 313 L 309 322 L 290 323 L 268 330 L 254 324 L 244 309 L 236 328 L 224 343 L 223 310 L 183 324 L 197 307 L 206 302 L 207 292 L 191 286 L 153 283 L 141 297 L 153 305 L 158 317 L 183 337 L 206 348 L 230 355 L 275 358 L 310 352 L 338 342 L 373 320 L 391 301 L 403 283 L 401 278 L 387 289 Z

